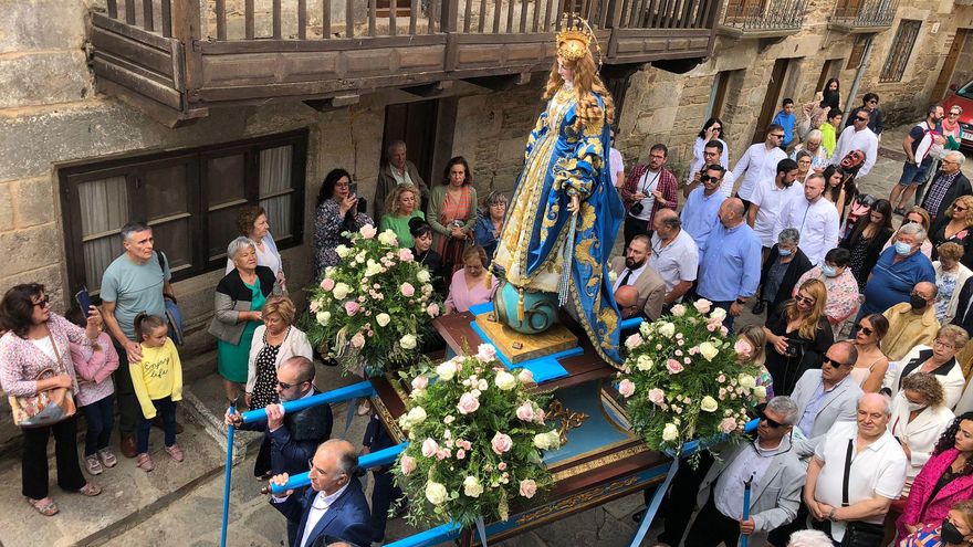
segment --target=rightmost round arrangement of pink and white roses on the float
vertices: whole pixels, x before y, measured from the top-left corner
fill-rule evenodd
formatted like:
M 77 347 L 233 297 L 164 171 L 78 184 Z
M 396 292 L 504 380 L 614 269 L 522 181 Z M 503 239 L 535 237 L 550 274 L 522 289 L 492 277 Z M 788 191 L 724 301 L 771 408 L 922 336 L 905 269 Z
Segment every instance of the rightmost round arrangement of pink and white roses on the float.
M 707 299 L 678 304 L 625 340 L 618 391 L 652 450 L 678 454 L 691 440 L 704 446 L 739 440 L 747 411 L 766 397 L 756 386 L 757 368 L 737 360 L 751 348 L 729 336 L 725 317 Z

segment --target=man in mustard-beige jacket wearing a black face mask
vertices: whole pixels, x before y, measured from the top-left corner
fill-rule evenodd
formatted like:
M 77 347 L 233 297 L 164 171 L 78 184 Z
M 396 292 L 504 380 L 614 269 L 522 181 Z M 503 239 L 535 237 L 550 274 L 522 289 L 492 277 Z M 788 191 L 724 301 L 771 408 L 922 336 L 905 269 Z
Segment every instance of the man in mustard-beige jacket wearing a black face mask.
M 881 340 L 881 350 L 889 361 L 898 361 L 920 344 L 932 346 L 939 332 L 935 318 L 937 286 L 921 281 L 909 293 L 909 302 L 902 302 L 882 313 L 889 319 L 889 332 Z

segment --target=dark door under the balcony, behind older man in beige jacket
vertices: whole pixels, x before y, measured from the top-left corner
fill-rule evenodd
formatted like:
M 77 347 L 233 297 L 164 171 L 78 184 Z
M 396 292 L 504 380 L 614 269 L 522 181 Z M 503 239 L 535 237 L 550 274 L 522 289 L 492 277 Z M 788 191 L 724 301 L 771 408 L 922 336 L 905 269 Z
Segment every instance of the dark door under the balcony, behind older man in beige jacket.
M 436 146 L 436 116 L 439 112 L 438 101 L 420 101 L 400 105 L 388 105 L 385 108 L 385 135 L 381 138 L 381 160 L 389 143 L 406 143 L 407 158 L 416 164 L 422 180 L 432 188 L 442 182 L 446 166 L 432 165 L 432 152 Z

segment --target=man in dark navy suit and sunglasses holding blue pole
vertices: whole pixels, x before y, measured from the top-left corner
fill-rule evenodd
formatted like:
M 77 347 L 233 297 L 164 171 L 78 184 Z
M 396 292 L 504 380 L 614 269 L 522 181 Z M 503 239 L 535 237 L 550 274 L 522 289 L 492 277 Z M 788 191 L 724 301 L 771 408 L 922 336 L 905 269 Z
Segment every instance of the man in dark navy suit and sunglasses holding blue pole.
M 321 393 L 314 386 L 314 362 L 303 356 L 291 357 L 278 368 L 278 398 L 281 403 Z M 265 431 L 261 454 L 270 453 L 270 473 L 297 474 L 307 470 L 307 461 L 317 446 L 331 438 L 334 423 L 331 407 L 313 407 L 285 413 L 281 404 L 265 408 L 266 421 L 243 423 L 240 412 L 224 417 L 227 425 L 249 431 Z M 260 457 L 260 455 L 258 456 Z M 287 522 L 290 545 L 295 545 L 300 519 Z

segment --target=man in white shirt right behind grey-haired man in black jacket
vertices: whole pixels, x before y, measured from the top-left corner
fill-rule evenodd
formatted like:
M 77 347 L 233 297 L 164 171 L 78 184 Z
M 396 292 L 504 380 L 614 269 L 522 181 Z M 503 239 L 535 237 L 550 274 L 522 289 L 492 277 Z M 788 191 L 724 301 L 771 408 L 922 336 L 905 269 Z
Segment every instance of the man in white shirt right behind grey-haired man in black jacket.
M 777 217 L 774 233 L 785 228 L 801 232 L 798 245 L 812 264 L 820 264 L 825 254 L 838 246 L 838 210 L 824 199 L 825 178 L 814 173 L 804 182 L 804 199 L 787 202 Z

